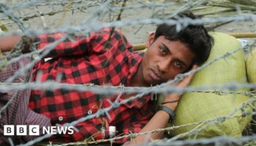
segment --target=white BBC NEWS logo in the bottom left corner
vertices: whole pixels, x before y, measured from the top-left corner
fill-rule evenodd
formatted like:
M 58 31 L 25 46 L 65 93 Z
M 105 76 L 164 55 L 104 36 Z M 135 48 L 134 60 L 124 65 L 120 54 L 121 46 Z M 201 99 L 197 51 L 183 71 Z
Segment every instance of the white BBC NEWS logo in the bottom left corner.
M 29 127 L 29 128 L 28 128 Z M 74 134 L 73 126 L 43 126 L 42 134 Z M 4 125 L 4 136 L 39 136 L 39 125 Z

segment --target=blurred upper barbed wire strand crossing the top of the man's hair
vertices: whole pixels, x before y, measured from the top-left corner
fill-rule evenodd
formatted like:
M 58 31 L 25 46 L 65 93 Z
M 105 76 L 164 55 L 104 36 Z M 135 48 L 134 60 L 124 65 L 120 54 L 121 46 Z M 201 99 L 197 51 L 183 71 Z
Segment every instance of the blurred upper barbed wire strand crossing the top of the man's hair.
M 189 24 L 192 25 L 201 25 L 201 24 L 210 24 L 210 23 L 225 23 L 229 21 L 253 21 L 256 22 L 256 15 L 252 13 L 244 13 L 241 15 L 236 16 L 229 16 L 229 17 L 218 17 L 218 18 L 206 18 L 206 19 L 190 19 L 190 18 L 179 18 L 178 20 L 165 20 L 160 18 L 145 18 L 145 19 L 139 19 L 139 20 L 122 20 L 122 21 L 113 21 L 111 23 L 102 23 L 102 22 L 95 22 L 93 24 L 89 24 L 88 26 L 61 26 L 59 28 L 54 29 L 28 29 L 26 31 L 22 32 L 12 32 L 12 33 L 4 33 L 1 34 L 0 37 L 8 36 L 8 35 L 25 35 L 28 37 L 36 37 L 39 34 L 52 34 L 56 32 L 72 32 L 72 34 L 75 33 L 81 33 L 88 34 L 91 31 L 99 31 L 102 28 L 121 28 L 124 26 L 135 26 L 137 24 L 162 24 L 166 23 L 169 25 L 176 25 L 177 31 L 180 31 L 181 28 L 188 26 Z M 100 23 L 100 24 L 99 24 Z

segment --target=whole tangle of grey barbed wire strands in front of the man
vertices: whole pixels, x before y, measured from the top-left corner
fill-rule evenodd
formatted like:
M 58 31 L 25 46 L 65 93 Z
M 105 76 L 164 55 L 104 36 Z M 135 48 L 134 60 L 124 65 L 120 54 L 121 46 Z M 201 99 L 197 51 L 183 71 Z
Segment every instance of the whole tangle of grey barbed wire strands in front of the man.
M 188 123 L 184 124 L 181 126 L 172 126 L 168 128 L 162 128 L 162 129 L 156 129 L 154 131 L 148 131 L 148 132 L 143 132 L 143 133 L 138 133 L 138 134 L 128 134 L 124 135 L 122 137 L 115 137 L 113 139 L 104 139 L 104 140 L 97 140 L 94 142 L 75 142 L 75 143 L 69 143 L 65 145 L 78 145 L 78 144 L 95 144 L 97 142 L 113 142 L 116 139 L 121 139 L 124 137 L 136 137 L 140 134 L 151 134 L 154 132 L 160 132 L 160 131 L 170 131 L 176 128 L 181 128 L 184 126 L 191 126 L 195 125 L 198 126 L 197 128 L 194 128 L 192 131 L 188 131 L 187 133 L 177 135 L 176 137 L 173 137 L 172 139 L 162 139 L 161 141 L 156 141 L 151 143 L 151 145 L 196 145 L 196 144 L 209 144 L 213 142 L 223 142 L 222 144 L 225 144 L 225 142 L 234 142 L 236 144 L 241 144 L 241 142 L 248 142 L 253 139 L 255 139 L 255 136 L 250 136 L 250 137 L 243 137 L 241 139 L 234 139 L 231 137 L 214 137 L 211 139 L 197 139 L 197 140 L 177 140 L 178 138 L 188 136 L 189 134 L 196 134 L 199 131 L 207 128 L 207 126 L 210 126 L 211 124 L 216 124 L 220 123 L 225 119 L 229 118 L 238 118 L 238 117 L 244 117 L 244 116 L 249 116 L 249 115 L 255 115 L 255 112 L 249 112 L 244 110 L 244 107 L 250 106 L 255 109 L 255 106 L 253 105 L 255 103 L 255 91 L 247 91 L 247 92 L 239 92 L 237 91 L 238 89 L 241 88 L 256 88 L 256 84 L 242 84 L 239 82 L 231 82 L 227 83 L 225 85 L 202 85 L 199 87 L 187 87 L 187 88 L 176 88 L 174 85 L 179 82 L 180 80 L 183 80 L 184 77 L 187 77 L 189 74 L 194 74 L 195 72 L 199 72 L 202 69 L 205 69 L 207 66 L 210 66 L 211 64 L 214 64 L 215 62 L 226 58 L 227 56 L 232 56 L 234 53 L 238 52 L 239 50 L 242 50 L 242 47 L 237 48 L 236 50 L 225 53 L 222 56 L 219 56 L 218 58 L 214 58 L 214 60 L 209 61 L 208 64 L 204 64 L 203 66 L 200 66 L 199 68 L 187 72 L 185 74 L 179 74 L 176 76 L 174 80 L 170 80 L 169 82 L 165 82 L 164 84 L 157 85 L 154 87 L 149 87 L 149 88 L 131 88 L 131 87 L 124 87 L 124 85 L 120 86 L 111 86 L 111 85 L 105 85 L 105 86 L 98 86 L 98 85 L 93 85 L 93 84 L 86 84 L 86 85 L 70 85 L 70 84 L 64 84 L 60 83 L 58 80 L 55 82 L 39 82 L 39 74 L 37 74 L 38 79 L 36 82 L 24 82 L 24 83 L 11 83 L 12 80 L 15 80 L 16 77 L 19 77 L 20 75 L 23 75 L 24 72 L 28 71 L 31 69 L 34 64 L 36 64 L 38 61 L 42 60 L 45 58 L 46 55 L 50 52 L 50 50 L 53 50 L 56 45 L 58 45 L 60 42 L 64 42 L 65 39 L 70 39 L 72 40 L 72 37 L 75 36 L 75 34 L 87 34 L 91 31 L 98 31 L 99 29 L 105 28 L 105 27 L 116 27 L 116 28 L 121 28 L 124 26 L 135 26 L 137 24 L 162 24 L 162 23 L 167 23 L 167 24 L 174 24 L 177 27 L 177 31 L 180 31 L 183 27 L 186 27 L 189 24 L 207 24 L 207 23 L 217 23 L 217 22 L 229 22 L 229 21 L 246 21 L 250 20 L 253 22 L 256 22 L 256 15 L 252 13 L 238 13 L 238 15 L 235 16 L 230 16 L 230 17 L 218 17 L 218 18 L 211 18 L 211 19 L 196 19 L 196 20 L 191 20 L 187 18 L 180 18 L 178 20 L 167 20 L 164 18 L 143 18 L 139 20 L 120 20 L 120 21 L 113 21 L 110 23 L 103 23 L 99 22 L 96 18 L 98 18 L 100 15 L 106 15 L 106 13 L 113 13 L 117 12 L 120 9 L 143 9 L 143 8 L 152 8 L 152 7 L 165 7 L 163 4 L 159 3 L 150 3 L 150 4 L 140 4 L 140 5 L 135 5 L 135 6 L 127 6 L 127 7 L 109 7 L 108 4 L 112 1 L 102 1 L 102 3 L 99 4 L 99 1 L 93 2 L 89 1 L 86 3 L 85 1 L 58 1 L 58 2 L 52 2 L 52 3 L 47 3 L 48 1 L 28 1 L 26 3 L 22 3 L 21 5 L 18 4 L 15 7 L 7 7 L 5 4 L 0 4 L 0 12 L 3 13 L 4 15 L 8 16 L 8 19 L 12 20 L 14 23 L 18 24 L 18 27 L 22 30 L 22 32 L 12 32 L 12 33 L 6 33 L 6 34 L 1 34 L 0 36 L 7 36 L 10 34 L 18 34 L 18 35 L 24 35 L 28 37 L 35 37 L 38 36 L 39 34 L 45 34 L 45 33 L 56 33 L 56 32 L 68 32 L 64 37 L 61 39 L 57 40 L 56 42 L 51 43 L 50 45 L 45 46 L 42 50 L 33 50 L 31 53 L 27 54 L 12 54 L 13 56 L 16 57 L 8 57 L 7 56 L 7 62 L 4 62 L 5 65 L 7 64 L 12 64 L 15 61 L 18 61 L 20 58 L 27 58 L 31 57 L 31 55 L 38 54 L 39 57 L 35 58 L 32 60 L 29 64 L 26 66 L 21 67 L 21 69 L 18 70 L 18 72 L 15 72 L 15 74 L 8 78 L 5 82 L 0 82 L 0 91 L 10 91 L 10 90 L 24 90 L 24 89 L 47 89 L 47 90 L 57 90 L 59 88 L 64 88 L 67 90 L 73 90 L 73 91 L 92 91 L 94 93 L 99 93 L 99 94 L 118 94 L 118 98 L 121 96 L 122 93 L 138 93 L 136 96 L 131 96 L 129 99 L 125 99 L 123 101 L 118 101 L 118 98 L 114 102 L 110 102 L 110 107 L 107 107 L 105 109 L 99 109 L 97 112 L 95 112 L 92 115 L 88 115 L 86 117 L 80 118 L 78 120 L 74 120 L 72 123 L 64 123 L 63 126 L 75 126 L 77 123 L 80 123 L 82 121 L 89 120 L 91 118 L 97 118 L 99 115 L 108 115 L 108 112 L 110 110 L 113 110 L 115 108 L 120 107 L 122 104 L 126 104 L 129 101 L 132 101 L 134 99 L 138 99 L 148 93 L 187 93 L 187 92 L 200 92 L 200 93 L 216 93 L 218 95 L 224 95 L 224 94 L 238 94 L 238 95 L 244 95 L 244 96 L 250 96 L 251 99 L 248 101 L 245 101 L 241 104 L 240 107 L 237 107 L 233 112 L 230 112 L 229 115 L 223 116 L 223 117 L 218 117 L 218 118 L 211 118 L 208 120 L 203 120 L 197 123 Z M 91 2 L 91 3 L 90 3 Z M 192 5 L 187 5 L 187 7 L 194 7 L 196 5 L 203 4 L 205 1 L 195 1 L 194 3 L 191 3 Z M 59 9 L 54 12 L 40 12 L 39 14 L 34 14 L 34 15 L 27 15 L 27 16 L 17 16 L 14 15 L 14 12 L 19 11 L 20 9 L 24 9 L 27 7 L 35 7 L 35 6 L 48 6 L 48 5 L 61 5 L 65 6 L 66 4 L 78 4 L 78 5 L 72 5 L 72 7 L 69 7 L 68 9 Z M 90 5 L 91 4 L 91 5 Z M 96 7 L 99 6 L 102 9 L 98 9 L 96 12 L 92 13 L 88 19 L 84 20 L 80 25 L 78 26 L 61 26 L 58 28 L 52 28 L 52 29 L 29 29 L 27 28 L 26 24 L 22 22 L 22 20 L 29 20 L 31 18 L 37 18 L 39 16 L 45 16 L 45 15 L 55 15 L 56 13 L 61 13 L 61 12 L 66 12 L 66 11 L 72 11 L 76 9 L 82 9 L 83 7 Z M 187 9 L 187 7 L 184 7 L 184 9 Z M 177 11 L 179 12 L 179 10 Z M 174 12 L 176 13 L 176 12 Z M 7 20 L 6 18 L 2 18 L 0 20 Z M 92 23 L 90 21 L 93 21 Z M 88 24 L 88 25 L 87 25 Z M 87 26 L 85 26 L 87 25 Z M 21 48 L 20 48 L 21 49 Z M 0 62 L 0 66 L 2 66 L 3 62 Z M 0 67 L 1 68 L 1 67 Z M 50 88 L 49 88 L 50 87 Z M 102 90 L 104 89 L 104 90 Z M 225 91 L 225 89 L 229 91 Z M 6 107 L 8 104 L 12 102 L 13 98 L 8 101 L 6 104 Z M 0 114 L 2 111 L 5 110 L 5 108 L 2 108 L 0 110 Z M 241 115 L 234 115 L 234 113 L 238 110 L 242 110 L 243 112 Z M 204 123 L 208 123 L 206 125 L 203 125 Z M 37 142 L 42 141 L 43 139 L 46 139 L 50 137 L 50 134 L 45 134 L 42 137 L 38 137 L 37 139 L 31 140 L 30 142 L 27 142 L 26 144 L 22 145 L 34 145 Z M 11 141 L 12 143 L 12 141 Z

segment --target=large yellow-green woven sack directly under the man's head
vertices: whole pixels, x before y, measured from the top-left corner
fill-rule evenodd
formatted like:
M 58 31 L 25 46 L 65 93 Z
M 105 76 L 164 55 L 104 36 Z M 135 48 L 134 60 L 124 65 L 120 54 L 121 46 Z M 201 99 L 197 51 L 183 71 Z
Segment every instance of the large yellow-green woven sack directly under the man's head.
M 211 33 L 214 37 L 214 47 L 208 61 L 219 57 L 227 52 L 233 51 L 241 47 L 241 44 L 234 37 L 222 33 Z M 208 62 L 207 61 L 207 62 Z M 206 69 L 201 70 L 191 82 L 191 86 L 202 85 L 224 85 L 232 82 L 246 83 L 246 69 L 244 63 L 244 51 L 239 50 L 237 53 L 221 59 Z M 242 89 L 238 91 L 248 91 Z M 248 96 L 225 94 L 218 95 L 216 93 L 185 93 L 181 96 L 178 107 L 176 108 L 176 118 L 173 126 L 180 126 L 187 123 L 197 123 L 203 120 L 228 115 L 235 110 L 238 105 L 248 100 Z M 252 111 L 247 107 L 246 110 Z M 235 115 L 241 115 L 241 110 L 235 112 Z M 233 137 L 241 137 L 241 133 L 251 120 L 251 116 L 225 119 L 221 123 L 213 123 L 201 131 L 195 131 L 191 138 L 215 137 L 219 135 L 227 135 Z M 208 123 L 206 123 L 208 124 Z M 206 126 L 200 125 L 197 129 Z M 198 125 L 197 125 L 198 126 Z M 196 126 L 184 126 L 170 131 L 172 136 L 191 131 Z M 187 138 L 187 137 L 184 137 Z

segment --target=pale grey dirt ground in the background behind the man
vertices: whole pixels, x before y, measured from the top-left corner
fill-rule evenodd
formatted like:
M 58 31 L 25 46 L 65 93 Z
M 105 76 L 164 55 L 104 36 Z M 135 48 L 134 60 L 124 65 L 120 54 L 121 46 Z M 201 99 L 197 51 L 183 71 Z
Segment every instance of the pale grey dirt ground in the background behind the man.
M 8 1 L 9 4 L 18 4 L 20 1 Z M 114 2 L 112 7 L 120 7 L 122 2 Z M 101 4 L 101 1 L 88 1 L 85 3 L 85 6 L 89 4 Z M 167 13 L 174 12 L 180 9 L 182 6 L 186 5 L 186 3 L 181 3 L 177 1 L 165 1 L 165 0 L 142 0 L 142 1 L 127 1 L 127 6 L 135 7 L 135 6 L 142 6 L 142 5 L 152 5 L 158 4 L 162 7 L 150 7 L 150 8 L 138 8 L 138 9 L 124 9 L 121 13 L 121 20 L 141 20 L 143 18 L 152 18 L 159 15 L 166 15 Z M 164 6 L 164 7 L 163 7 Z M 23 15 L 29 16 L 40 13 L 48 13 L 48 12 L 58 12 L 59 10 L 64 9 L 63 6 L 56 6 L 56 5 L 47 5 L 42 7 L 29 7 L 29 9 L 22 9 L 16 15 Z M 45 23 L 47 28 L 56 28 L 59 26 L 75 26 L 79 25 L 89 18 L 89 16 L 93 12 L 101 12 L 102 9 L 99 6 L 93 7 L 86 7 L 83 10 L 75 10 L 75 11 L 67 11 L 67 12 L 60 12 L 55 15 L 49 16 L 45 15 L 41 18 L 32 18 L 27 21 L 26 23 L 28 28 L 43 28 L 42 23 Z M 99 18 L 94 17 L 92 20 L 99 20 L 103 22 L 109 22 L 111 20 L 116 20 L 117 15 L 120 11 L 111 12 L 109 15 L 109 11 L 104 12 Z M 1 16 L 1 15 L 0 15 Z M 10 20 L 4 21 L 5 23 L 9 23 Z M 92 21 L 90 21 L 93 23 Z M 98 24 L 98 23 L 97 23 Z M 10 23 L 7 25 L 11 31 L 17 31 L 18 27 L 14 23 Z M 154 31 L 156 28 L 155 25 L 134 25 L 134 26 L 125 26 L 121 27 L 121 31 L 124 32 L 126 37 L 133 45 L 143 43 L 146 41 L 148 37 L 148 32 Z M 214 31 L 220 32 L 256 32 L 256 23 L 254 22 L 233 22 L 227 23 L 225 25 L 219 26 L 214 29 Z

